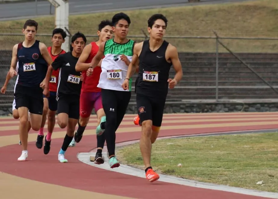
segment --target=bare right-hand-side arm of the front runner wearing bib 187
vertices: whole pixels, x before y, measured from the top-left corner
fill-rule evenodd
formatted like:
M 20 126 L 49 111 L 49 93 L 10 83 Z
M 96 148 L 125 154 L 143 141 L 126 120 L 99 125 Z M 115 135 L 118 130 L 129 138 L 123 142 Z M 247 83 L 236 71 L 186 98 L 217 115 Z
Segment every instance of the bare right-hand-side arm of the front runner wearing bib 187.
M 176 71 L 174 80 L 177 81 L 177 83 L 178 83 L 182 79 L 183 72 L 182 72 L 181 62 L 178 57 L 178 50 L 175 46 L 172 46 L 172 45 L 169 46 L 169 58 L 172 62 L 173 68 Z

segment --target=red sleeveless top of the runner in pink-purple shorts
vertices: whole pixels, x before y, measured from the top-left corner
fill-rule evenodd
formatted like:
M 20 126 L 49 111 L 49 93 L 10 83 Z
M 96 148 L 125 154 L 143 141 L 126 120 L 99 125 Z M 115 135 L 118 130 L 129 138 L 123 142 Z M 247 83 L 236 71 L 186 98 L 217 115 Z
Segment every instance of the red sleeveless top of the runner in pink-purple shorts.
M 92 59 L 97 54 L 97 51 L 99 49 L 99 46 L 97 46 L 97 44 L 95 42 L 91 42 L 91 45 L 92 45 L 91 53 L 90 53 L 88 59 L 85 61 L 85 63 L 91 63 Z M 97 87 L 100 73 L 101 73 L 101 67 L 99 67 L 99 66 L 94 68 L 93 74 L 89 77 L 86 75 L 86 70 L 82 71 L 84 80 L 82 82 L 81 92 L 85 92 L 85 93 L 100 92 L 101 88 Z

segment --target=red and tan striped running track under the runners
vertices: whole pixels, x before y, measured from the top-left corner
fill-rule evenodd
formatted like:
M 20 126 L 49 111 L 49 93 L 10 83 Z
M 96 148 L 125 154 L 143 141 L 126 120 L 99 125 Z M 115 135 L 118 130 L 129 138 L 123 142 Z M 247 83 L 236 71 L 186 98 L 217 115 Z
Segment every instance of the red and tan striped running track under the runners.
M 278 113 L 197 113 L 166 114 L 162 136 L 201 134 L 278 128 Z M 137 140 L 140 127 L 133 125 L 134 115 L 125 115 L 116 135 L 116 142 Z M 45 134 L 47 132 L 45 125 Z M 28 198 L 184 198 L 184 199 L 259 199 L 243 194 L 194 188 L 166 182 L 149 183 L 144 178 L 99 169 L 81 163 L 76 155 L 96 147 L 96 120 L 91 116 L 82 141 L 69 148 L 69 163 L 59 163 L 57 153 L 65 131 L 57 125 L 52 136 L 51 151 L 43 154 L 35 146 L 36 132 L 29 133 L 29 161 L 17 162 L 18 120 L 0 118 L 0 193 L 3 199 Z M 106 147 L 105 147 L 106 148 Z

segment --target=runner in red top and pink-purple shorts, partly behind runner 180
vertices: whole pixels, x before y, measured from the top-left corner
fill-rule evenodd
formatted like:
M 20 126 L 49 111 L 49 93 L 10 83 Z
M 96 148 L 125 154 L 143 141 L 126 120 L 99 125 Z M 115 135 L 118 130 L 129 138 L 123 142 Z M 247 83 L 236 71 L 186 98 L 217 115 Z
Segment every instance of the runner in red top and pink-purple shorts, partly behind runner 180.
M 92 42 L 85 46 L 81 56 L 76 63 L 76 71 L 82 71 L 84 80 L 82 83 L 82 89 L 80 94 L 80 108 L 79 108 L 79 122 L 78 122 L 78 129 L 74 135 L 74 139 L 69 146 L 75 146 L 75 142 L 79 142 L 82 138 L 83 132 L 86 128 L 86 125 L 89 122 L 89 118 L 91 112 L 94 108 L 95 112 L 97 113 L 97 125 L 100 124 L 100 120 L 103 116 L 105 116 L 103 107 L 102 107 L 102 100 L 101 100 L 101 89 L 97 87 L 101 68 L 96 67 L 93 71 L 93 74 L 88 77 L 86 76 L 86 71 L 89 68 L 89 65 L 93 59 L 93 57 L 97 54 L 98 46 L 113 36 L 112 30 L 112 22 L 105 20 L 101 21 L 98 25 L 97 35 L 99 36 L 99 40 L 97 42 Z M 99 63 L 99 66 L 101 61 Z M 105 137 L 104 135 L 97 136 L 97 153 L 94 158 L 96 164 L 102 164 L 104 162 L 102 157 L 102 149 L 104 146 Z M 91 158 L 90 158 L 91 160 Z

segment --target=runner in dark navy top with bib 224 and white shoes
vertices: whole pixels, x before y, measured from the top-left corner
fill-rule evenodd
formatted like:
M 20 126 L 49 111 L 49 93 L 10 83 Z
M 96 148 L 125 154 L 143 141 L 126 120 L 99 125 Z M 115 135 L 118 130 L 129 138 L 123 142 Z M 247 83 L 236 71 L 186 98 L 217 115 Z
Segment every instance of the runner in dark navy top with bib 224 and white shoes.
M 51 56 L 44 43 L 36 40 L 38 23 L 34 20 L 27 20 L 23 26 L 25 40 L 13 47 L 10 75 L 17 74 L 18 82 L 15 89 L 15 102 L 19 114 L 20 141 L 23 151 L 18 161 L 26 161 L 28 157 L 28 110 L 30 112 L 31 127 L 39 131 L 42 123 L 43 95 L 42 87 L 48 65 L 52 63 Z

